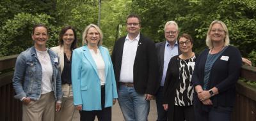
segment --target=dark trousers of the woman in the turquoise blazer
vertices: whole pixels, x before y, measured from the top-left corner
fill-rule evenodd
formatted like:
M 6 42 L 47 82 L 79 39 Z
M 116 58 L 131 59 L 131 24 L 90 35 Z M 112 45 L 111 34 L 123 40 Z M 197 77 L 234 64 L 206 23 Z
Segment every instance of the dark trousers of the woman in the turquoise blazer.
M 81 121 L 94 121 L 95 117 L 99 121 L 111 121 L 111 107 L 104 108 L 105 106 L 105 87 L 101 87 L 101 107 L 102 110 L 95 111 L 80 111 Z

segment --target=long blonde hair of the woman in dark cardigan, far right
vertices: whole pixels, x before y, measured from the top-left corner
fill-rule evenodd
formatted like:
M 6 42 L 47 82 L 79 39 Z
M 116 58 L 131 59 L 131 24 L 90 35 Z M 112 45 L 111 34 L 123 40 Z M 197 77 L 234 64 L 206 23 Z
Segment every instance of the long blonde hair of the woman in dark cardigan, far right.
M 212 29 L 212 25 L 214 24 L 220 24 L 222 27 L 223 27 L 223 30 L 225 31 L 225 38 L 224 38 L 224 42 L 225 42 L 225 45 L 224 46 L 228 46 L 229 45 L 229 34 L 228 34 L 228 28 L 227 28 L 227 25 L 222 22 L 221 20 L 214 20 L 210 26 L 209 26 L 209 29 L 208 29 L 208 32 L 207 32 L 207 36 L 206 36 L 206 45 L 209 47 L 209 49 L 212 49 L 214 46 L 212 45 L 212 40 L 210 38 L 210 33 L 211 33 L 211 29 Z

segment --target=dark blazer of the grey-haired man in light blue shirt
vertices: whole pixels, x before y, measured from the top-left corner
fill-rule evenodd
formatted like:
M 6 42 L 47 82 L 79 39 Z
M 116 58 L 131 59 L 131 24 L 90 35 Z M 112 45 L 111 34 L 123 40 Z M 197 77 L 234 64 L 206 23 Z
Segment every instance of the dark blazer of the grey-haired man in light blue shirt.
M 162 41 L 156 43 L 156 50 L 157 50 L 157 59 L 158 59 L 158 67 L 159 67 L 159 83 L 161 83 L 162 76 L 163 76 L 163 69 L 164 69 L 164 48 L 165 48 L 166 41 Z M 178 55 L 180 55 L 180 48 L 178 46 Z

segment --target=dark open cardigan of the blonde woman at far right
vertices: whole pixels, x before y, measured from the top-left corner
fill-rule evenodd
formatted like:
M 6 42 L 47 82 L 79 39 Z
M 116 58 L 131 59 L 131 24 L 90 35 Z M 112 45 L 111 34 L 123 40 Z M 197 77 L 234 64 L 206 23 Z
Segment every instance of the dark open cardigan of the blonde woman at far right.
M 193 85 L 204 87 L 204 69 L 209 49 L 204 50 L 196 59 L 196 65 L 192 76 Z M 228 60 L 221 59 L 226 56 Z M 211 97 L 213 106 L 234 106 L 236 98 L 236 82 L 240 75 L 242 66 L 241 54 L 234 46 L 227 46 L 226 50 L 218 57 L 212 65 L 207 90 L 216 87 L 219 94 Z M 193 97 L 194 106 L 204 106 L 195 93 Z M 199 107 L 198 107 L 199 106 Z M 205 107 L 205 106 L 204 106 Z

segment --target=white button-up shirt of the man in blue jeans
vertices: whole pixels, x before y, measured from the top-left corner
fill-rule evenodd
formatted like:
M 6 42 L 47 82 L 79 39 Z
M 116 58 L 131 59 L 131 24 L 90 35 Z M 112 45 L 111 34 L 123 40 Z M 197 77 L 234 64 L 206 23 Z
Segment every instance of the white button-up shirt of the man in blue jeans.
M 133 64 L 140 40 L 140 34 L 134 39 L 127 35 L 124 42 L 120 82 L 133 82 Z

